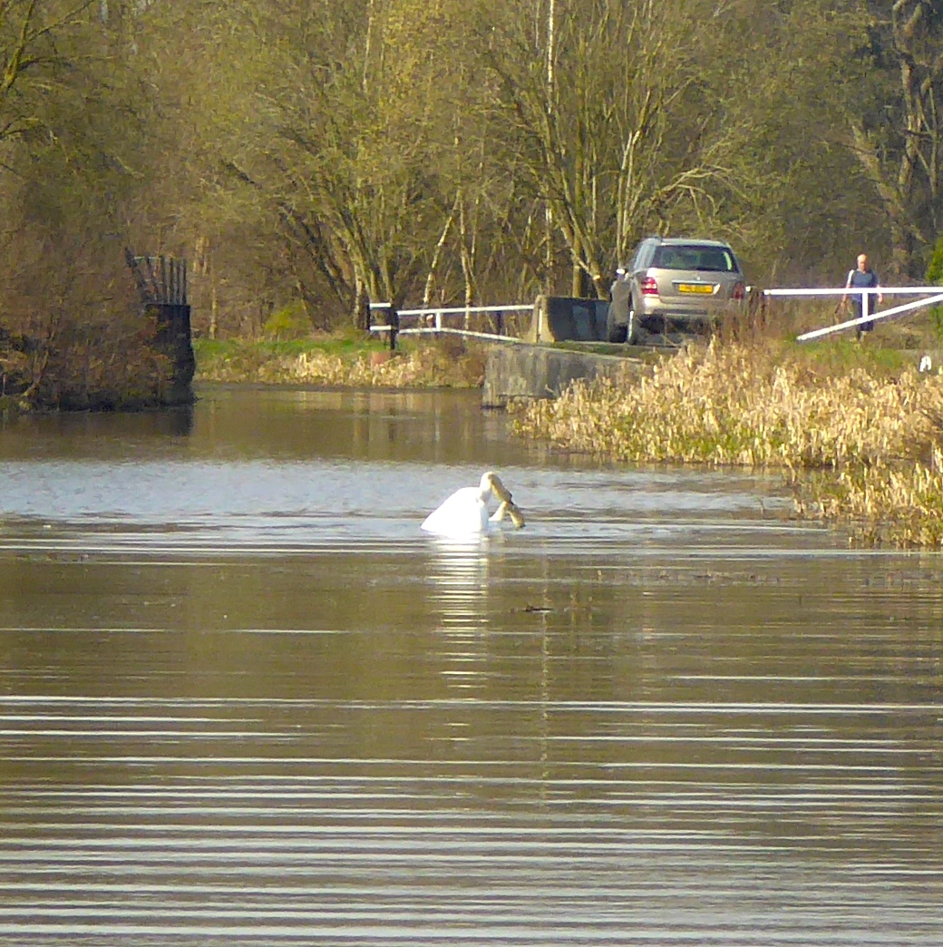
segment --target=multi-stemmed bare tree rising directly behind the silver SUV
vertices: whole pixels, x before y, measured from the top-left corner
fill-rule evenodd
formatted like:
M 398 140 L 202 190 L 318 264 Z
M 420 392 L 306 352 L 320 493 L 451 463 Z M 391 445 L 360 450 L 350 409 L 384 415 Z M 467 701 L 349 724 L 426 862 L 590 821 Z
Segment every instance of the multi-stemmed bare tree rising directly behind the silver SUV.
M 718 120 L 722 96 L 703 94 L 700 68 L 725 10 L 557 0 L 553 45 L 538 58 L 529 10 L 511 4 L 489 44 L 514 160 L 597 295 L 645 226 L 667 228 L 676 205 L 710 201 L 715 182 L 729 183 L 738 129 Z

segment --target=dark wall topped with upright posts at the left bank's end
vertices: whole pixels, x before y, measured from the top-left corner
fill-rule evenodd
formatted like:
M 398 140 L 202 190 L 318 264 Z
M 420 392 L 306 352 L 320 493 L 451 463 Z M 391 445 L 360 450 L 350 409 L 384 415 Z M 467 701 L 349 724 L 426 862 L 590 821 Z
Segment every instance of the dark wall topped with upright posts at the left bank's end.
M 166 402 L 193 401 L 196 358 L 190 331 L 187 304 L 187 260 L 174 257 L 139 257 L 125 250 L 125 259 L 134 277 L 144 313 L 157 324 L 154 347 L 173 366 Z

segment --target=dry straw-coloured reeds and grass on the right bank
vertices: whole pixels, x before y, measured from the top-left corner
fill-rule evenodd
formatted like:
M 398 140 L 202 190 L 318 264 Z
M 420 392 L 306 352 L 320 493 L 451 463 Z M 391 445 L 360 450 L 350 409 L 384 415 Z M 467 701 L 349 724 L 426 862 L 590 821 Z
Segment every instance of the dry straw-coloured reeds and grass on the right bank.
M 632 462 L 781 468 L 860 543 L 943 546 L 943 378 L 891 349 L 714 343 L 533 402 L 519 434 Z

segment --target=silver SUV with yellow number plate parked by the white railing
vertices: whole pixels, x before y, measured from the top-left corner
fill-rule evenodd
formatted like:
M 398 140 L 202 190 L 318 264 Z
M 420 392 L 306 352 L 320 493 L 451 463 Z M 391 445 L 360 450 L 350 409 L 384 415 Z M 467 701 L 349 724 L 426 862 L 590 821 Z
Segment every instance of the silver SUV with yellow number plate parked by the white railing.
M 613 283 L 610 342 L 648 334 L 711 329 L 746 296 L 743 272 L 728 243 L 647 237 Z

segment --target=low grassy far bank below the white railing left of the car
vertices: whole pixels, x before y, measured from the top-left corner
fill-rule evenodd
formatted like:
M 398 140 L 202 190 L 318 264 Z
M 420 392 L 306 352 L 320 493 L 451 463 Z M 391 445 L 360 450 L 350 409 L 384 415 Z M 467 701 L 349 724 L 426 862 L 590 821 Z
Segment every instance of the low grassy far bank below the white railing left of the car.
M 299 341 L 195 339 L 198 382 L 329 387 L 473 388 L 485 376 L 485 350 L 449 340 L 379 340 L 325 335 Z

